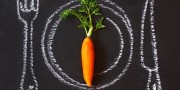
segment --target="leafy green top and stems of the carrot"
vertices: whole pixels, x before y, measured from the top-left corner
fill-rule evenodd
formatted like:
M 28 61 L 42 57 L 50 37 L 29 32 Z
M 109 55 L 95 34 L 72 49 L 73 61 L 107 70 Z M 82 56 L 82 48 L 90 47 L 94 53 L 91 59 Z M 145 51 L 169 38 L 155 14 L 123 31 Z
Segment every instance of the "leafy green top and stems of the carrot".
M 60 17 L 66 19 L 68 16 L 76 16 L 81 23 L 78 27 L 85 30 L 87 37 L 91 37 L 93 31 L 105 27 L 105 25 L 102 24 L 104 17 L 101 16 L 101 18 L 96 21 L 95 25 L 93 25 L 93 15 L 101 15 L 97 0 L 78 1 L 80 3 L 79 10 L 66 9 L 60 14 Z

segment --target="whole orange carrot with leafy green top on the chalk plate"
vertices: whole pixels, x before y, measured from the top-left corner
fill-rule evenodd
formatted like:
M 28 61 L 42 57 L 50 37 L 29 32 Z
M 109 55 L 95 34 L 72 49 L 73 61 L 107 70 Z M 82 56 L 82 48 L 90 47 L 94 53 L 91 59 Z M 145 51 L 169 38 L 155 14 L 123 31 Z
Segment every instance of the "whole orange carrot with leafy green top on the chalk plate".
M 102 24 L 104 17 L 98 19 L 93 25 L 92 16 L 100 16 L 101 13 L 97 0 L 78 0 L 80 2 L 79 10 L 67 9 L 64 10 L 60 17 L 66 19 L 68 16 L 76 16 L 80 25 L 78 27 L 83 28 L 86 32 L 86 38 L 84 39 L 81 47 L 81 59 L 84 81 L 88 87 L 92 86 L 92 80 L 94 75 L 94 44 L 91 39 L 92 33 L 98 29 L 104 28 Z

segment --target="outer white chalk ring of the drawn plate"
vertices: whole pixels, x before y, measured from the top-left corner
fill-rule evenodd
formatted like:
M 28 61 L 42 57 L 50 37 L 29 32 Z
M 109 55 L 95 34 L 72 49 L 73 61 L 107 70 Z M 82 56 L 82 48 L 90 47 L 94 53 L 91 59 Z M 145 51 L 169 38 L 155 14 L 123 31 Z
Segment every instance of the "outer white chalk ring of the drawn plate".
M 73 1 L 71 1 L 70 3 L 68 3 L 68 4 L 71 4 L 71 3 L 73 3 Z M 67 5 L 68 5 L 67 4 Z M 64 5 L 63 7 L 65 7 L 66 5 Z M 55 12 L 54 14 L 57 14 L 63 7 L 60 7 L 60 9 L 58 9 L 58 11 L 57 12 Z M 113 12 L 113 11 L 112 11 Z M 45 39 L 45 34 L 46 34 L 46 29 L 47 29 L 47 26 L 48 26 L 48 24 L 51 22 L 51 20 L 52 20 L 52 17 L 54 16 L 54 14 L 52 14 L 51 16 L 50 16 L 50 18 L 48 19 L 48 21 L 47 21 L 47 24 L 46 24 L 46 27 L 45 27 L 45 31 L 43 31 L 43 34 L 42 34 L 42 40 L 41 40 L 41 45 L 42 45 L 42 52 L 43 52 L 43 57 L 44 57 L 44 59 L 45 59 L 45 63 L 46 63 L 46 65 L 48 66 L 48 68 L 53 72 L 54 70 L 53 70 L 53 68 L 52 68 L 52 66 L 48 63 L 48 60 L 47 60 L 47 58 L 46 58 L 46 53 L 45 53 L 45 45 L 44 45 L 44 39 Z M 118 12 L 116 12 L 116 14 L 115 15 L 117 15 L 118 14 Z M 118 15 L 121 19 L 123 18 L 121 15 Z M 102 89 L 102 88 L 105 88 L 105 87 L 108 87 L 108 86 L 110 86 L 110 85 L 112 85 L 112 84 L 114 84 L 117 80 L 119 80 L 120 79 L 120 77 L 123 75 L 123 74 L 125 74 L 125 72 L 127 71 L 127 68 L 128 68 L 128 66 L 130 65 L 130 61 L 131 61 L 131 58 L 132 58 L 132 49 L 133 49 L 133 47 L 132 47 L 132 45 L 133 45 L 133 37 L 132 37 L 132 29 L 131 29 L 131 25 L 127 25 L 127 23 L 129 23 L 129 22 L 126 22 L 126 20 L 123 18 L 123 21 L 125 22 L 125 24 L 126 24 L 126 26 L 127 26 L 127 28 L 128 28 L 128 31 L 129 31 L 129 33 L 130 33 L 130 44 L 131 44 L 131 50 L 130 50 L 130 57 L 129 57 L 129 62 L 128 62 L 128 64 L 126 65 L 126 68 L 124 69 L 124 71 L 122 72 L 122 74 L 120 74 L 119 76 L 118 76 L 118 78 L 117 79 L 115 79 L 115 80 L 113 80 L 112 82 L 110 82 L 110 83 L 107 83 L 107 84 L 104 84 L 104 85 L 100 85 L 99 87 L 97 87 L 97 89 Z M 52 53 L 51 53 L 52 54 Z M 53 60 L 54 61 L 54 60 Z M 62 70 L 62 69 L 60 69 L 60 70 Z M 55 74 L 55 76 L 56 77 L 59 77 L 59 79 L 62 81 L 63 79 L 62 79 L 62 77 L 61 76 L 59 76 L 56 72 L 54 72 L 54 74 Z M 63 81 L 64 83 L 68 83 L 68 82 L 66 82 L 66 81 Z M 71 84 L 72 85 L 72 84 Z M 80 84 L 80 85 L 82 85 L 82 86 L 84 86 L 84 84 Z M 73 86 L 76 86 L 76 87 L 79 87 L 79 88 L 86 88 L 86 87 L 82 87 L 82 86 L 77 86 L 77 85 L 73 85 Z

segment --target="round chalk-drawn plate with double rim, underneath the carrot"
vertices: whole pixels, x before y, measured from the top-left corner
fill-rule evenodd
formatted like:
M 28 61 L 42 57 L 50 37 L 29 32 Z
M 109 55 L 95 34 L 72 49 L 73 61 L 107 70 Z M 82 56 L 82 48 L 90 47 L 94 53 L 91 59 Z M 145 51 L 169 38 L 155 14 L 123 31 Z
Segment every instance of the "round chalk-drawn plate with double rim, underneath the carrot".
M 80 58 L 85 32 L 77 28 L 79 22 L 76 18 L 61 20 L 59 17 L 64 9 L 78 7 L 77 1 L 71 1 L 48 18 L 41 46 L 45 64 L 58 80 L 87 89 L 82 79 Z M 100 8 L 107 27 L 92 36 L 96 51 L 92 88 L 96 89 L 106 88 L 120 80 L 131 64 L 133 51 L 131 25 L 122 8 L 108 0 L 100 1 Z

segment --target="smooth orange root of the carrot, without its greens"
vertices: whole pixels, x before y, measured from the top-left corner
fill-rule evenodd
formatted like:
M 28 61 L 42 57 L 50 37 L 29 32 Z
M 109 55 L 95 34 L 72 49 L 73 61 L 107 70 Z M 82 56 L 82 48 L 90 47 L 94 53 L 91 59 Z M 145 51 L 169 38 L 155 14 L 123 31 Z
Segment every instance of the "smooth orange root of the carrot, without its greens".
M 82 43 L 81 58 L 83 76 L 87 86 L 92 85 L 94 75 L 94 44 L 90 37 L 86 37 Z

